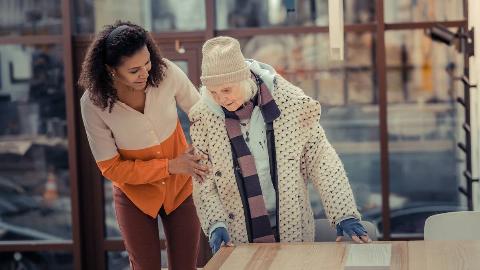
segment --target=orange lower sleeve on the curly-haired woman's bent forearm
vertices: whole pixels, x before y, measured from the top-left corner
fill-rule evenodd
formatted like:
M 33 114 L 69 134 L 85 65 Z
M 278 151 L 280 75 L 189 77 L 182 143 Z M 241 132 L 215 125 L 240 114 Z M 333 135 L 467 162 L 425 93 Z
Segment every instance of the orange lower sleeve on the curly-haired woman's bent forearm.
M 122 160 L 120 155 L 97 162 L 102 175 L 118 184 L 141 185 L 170 176 L 168 159 Z

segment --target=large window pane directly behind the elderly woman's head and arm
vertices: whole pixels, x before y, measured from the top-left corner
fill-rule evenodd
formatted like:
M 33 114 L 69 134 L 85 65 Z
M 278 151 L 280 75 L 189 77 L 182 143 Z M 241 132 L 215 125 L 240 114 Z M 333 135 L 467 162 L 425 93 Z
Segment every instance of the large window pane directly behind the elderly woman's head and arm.
M 277 72 L 322 104 L 322 124 L 349 175 L 361 211 L 381 209 L 378 105 L 371 33 L 347 33 L 345 61 L 329 60 L 328 34 L 255 36 L 242 39 L 245 57 Z M 323 217 L 310 189 L 316 218 Z

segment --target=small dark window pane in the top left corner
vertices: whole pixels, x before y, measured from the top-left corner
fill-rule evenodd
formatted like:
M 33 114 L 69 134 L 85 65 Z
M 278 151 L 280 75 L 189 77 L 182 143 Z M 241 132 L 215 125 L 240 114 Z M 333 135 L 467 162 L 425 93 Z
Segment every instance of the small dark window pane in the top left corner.
M 0 10 L 0 36 L 62 33 L 60 0 L 2 0 Z

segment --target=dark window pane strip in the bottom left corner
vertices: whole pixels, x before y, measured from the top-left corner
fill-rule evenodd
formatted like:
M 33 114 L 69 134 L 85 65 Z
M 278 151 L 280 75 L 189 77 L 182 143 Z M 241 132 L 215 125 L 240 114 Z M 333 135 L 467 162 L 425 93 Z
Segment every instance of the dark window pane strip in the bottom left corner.
M 73 269 L 73 256 L 67 252 L 1 252 L 0 269 Z

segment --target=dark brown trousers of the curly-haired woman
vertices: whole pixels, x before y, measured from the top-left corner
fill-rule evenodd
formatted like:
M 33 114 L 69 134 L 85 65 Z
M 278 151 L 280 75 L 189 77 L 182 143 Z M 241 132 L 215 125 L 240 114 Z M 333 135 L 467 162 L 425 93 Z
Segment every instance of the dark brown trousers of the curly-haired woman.
M 138 209 L 117 187 L 114 187 L 117 222 L 133 270 L 160 270 L 160 239 L 158 221 Z M 167 240 L 168 269 L 196 268 L 200 222 L 192 196 L 167 215 L 163 207 L 159 213 Z

